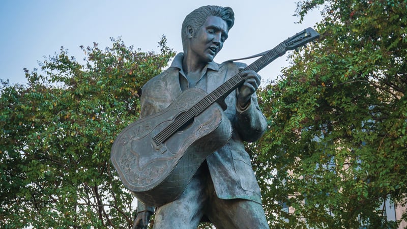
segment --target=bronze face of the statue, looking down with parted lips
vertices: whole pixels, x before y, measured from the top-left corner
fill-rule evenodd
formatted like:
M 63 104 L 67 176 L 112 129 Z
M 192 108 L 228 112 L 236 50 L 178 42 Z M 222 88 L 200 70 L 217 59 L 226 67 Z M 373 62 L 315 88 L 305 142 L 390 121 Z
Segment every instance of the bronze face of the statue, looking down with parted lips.
M 188 52 L 197 63 L 212 62 L 226 39 L 226 22 L 220 17 L 210 16 L 192 36 Z

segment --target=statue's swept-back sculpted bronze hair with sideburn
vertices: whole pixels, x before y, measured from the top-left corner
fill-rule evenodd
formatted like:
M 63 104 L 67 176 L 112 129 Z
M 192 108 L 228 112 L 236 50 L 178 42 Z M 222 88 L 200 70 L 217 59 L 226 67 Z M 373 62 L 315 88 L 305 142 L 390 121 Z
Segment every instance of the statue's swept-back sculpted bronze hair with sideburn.
M 192 26 L 194 33 L 199 30 L 199 28 L 205 23 L 208 17 L 216 16 L 222 18 L 227 24 L 227 30 L 235 23 L 235 13 L 230 7 L 220 7 L 220 6 L 203 6 L 189 13 L 184 22 L 182 22 L 181 27 L 181 38 L 182 42 L 187 39 L 187 27 Z

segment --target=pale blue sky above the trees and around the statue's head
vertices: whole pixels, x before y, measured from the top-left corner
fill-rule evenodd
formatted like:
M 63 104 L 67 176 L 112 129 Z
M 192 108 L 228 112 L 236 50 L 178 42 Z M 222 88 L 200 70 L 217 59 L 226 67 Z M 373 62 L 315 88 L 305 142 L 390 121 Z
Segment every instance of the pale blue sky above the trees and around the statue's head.
M 299 0 L 3 0 L 0 3 L 0 78 L 11 83 L 26 82 L 23 68 L 40 68 L 37 61 L 59 52 L 61 46 L 80 61 L 79 46 L 99 43 L 111 46 L 110 37 L 121 37 L 127 46 L 158 51 L 165 35 L 167 45 L 182 52 L 181 24 L 192 10 L 204 5 L 231 7 L 235 25 L 215 61 L 249 56 L 274 48 L 304 28 L 321 20 L 315 10 L 302 24 L 293 16 Z M 259 74 L 275 79 L 288 66 L 286 54 Z M 253 60 L 243 61 L 247 64 Z

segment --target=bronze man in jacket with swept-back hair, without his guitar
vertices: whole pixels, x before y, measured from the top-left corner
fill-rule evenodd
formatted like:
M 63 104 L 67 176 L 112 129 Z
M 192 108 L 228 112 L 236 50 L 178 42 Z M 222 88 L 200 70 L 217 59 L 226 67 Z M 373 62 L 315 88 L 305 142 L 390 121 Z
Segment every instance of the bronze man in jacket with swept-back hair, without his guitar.
M 204 6 L 182 24 L 183 53 L 171 66 L 142 88 L 141 117 L 159 112 L 179 94 L 196 87 L 210 93 L 245 67 L 242 63 L 213 61 L 234 24 L 229 7 Z M 260 189 L 243 141 L 255 141 L 267 127 L 255 91 L 260 76 L 245 71 L 245 82 L 225 98 L 224 111 L 232 125 L 229 142 L 209 155 L 183 194 L 163 206 L 138 202 L 135 228 L 147 228 L 157 208 L 154 228 L 196 228 L 202 219 L 216 228 L 269 228 L 261 206 Z

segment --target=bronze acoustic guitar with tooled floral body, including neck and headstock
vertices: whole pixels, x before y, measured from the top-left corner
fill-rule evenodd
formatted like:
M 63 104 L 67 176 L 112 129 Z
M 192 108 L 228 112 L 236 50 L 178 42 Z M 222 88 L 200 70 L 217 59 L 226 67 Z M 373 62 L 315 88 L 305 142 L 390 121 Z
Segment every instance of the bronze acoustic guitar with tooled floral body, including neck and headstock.
M 287 50 L 318 37 L 307 28 L 244 70 L 258 72 Z M 157 207 L 174 201 L 206 157 L 227 143 L 232 128 L 220 104 L 245 81 L 241 72 L 209 94 L 197 88 L 185 90 L 166 109 L 130 124 L 118 135 L 111 161 L 139 201 Z

